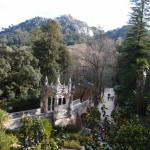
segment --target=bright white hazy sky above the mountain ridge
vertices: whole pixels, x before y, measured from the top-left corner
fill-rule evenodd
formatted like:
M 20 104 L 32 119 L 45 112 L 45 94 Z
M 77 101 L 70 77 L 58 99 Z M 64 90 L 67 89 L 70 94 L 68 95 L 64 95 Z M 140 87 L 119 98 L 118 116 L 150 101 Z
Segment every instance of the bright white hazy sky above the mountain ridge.
M 0 29 L 36 16 L 71 14 L 107 31 L 127 24 L 129 12 L 129 0 L 0 0 Z

